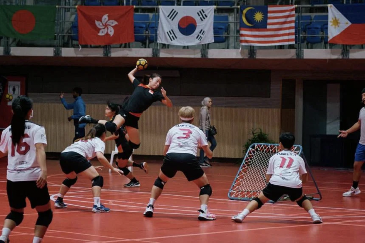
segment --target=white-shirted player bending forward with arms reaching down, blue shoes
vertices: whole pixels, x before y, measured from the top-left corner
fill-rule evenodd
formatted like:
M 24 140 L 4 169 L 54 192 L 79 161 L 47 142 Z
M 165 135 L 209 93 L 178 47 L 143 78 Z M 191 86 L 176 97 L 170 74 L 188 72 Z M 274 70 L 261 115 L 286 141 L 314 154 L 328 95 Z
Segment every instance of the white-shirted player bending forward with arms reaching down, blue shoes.
M 104 184 L 103 176 L 97 173 L 96 169 L 103 166 L 92 166 L 88 160 L 97 157 L 99 162 L 112 171 L 122 174 L 122 172 L 109 164 L 107 158 L 104 157 L 105 150 L 105 132 L 106 128 L 102 124 L 96 124 L 89 133 L 72 145 L 68 146 L 61 152 L 59 164 L 65 173 L 66 179 L 62 182 L 57 200 L 54 203 L 55 208 L 67 208 L 63 198 L 77 181 L 77 175 L 81 175 L 92 181 L 92 193 L 94 197 L 94 205 L 92 211 L 95 213 L 109 212 L 110 209 L 104 207 L 100 203 L 100 192 Z

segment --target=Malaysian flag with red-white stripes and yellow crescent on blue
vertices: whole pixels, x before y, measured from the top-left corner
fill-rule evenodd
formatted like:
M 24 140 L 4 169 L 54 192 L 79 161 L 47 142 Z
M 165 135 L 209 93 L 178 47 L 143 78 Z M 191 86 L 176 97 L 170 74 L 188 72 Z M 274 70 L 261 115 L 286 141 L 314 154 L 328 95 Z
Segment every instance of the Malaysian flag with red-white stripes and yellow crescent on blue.
M 241 6 L 239 39 L 244 46 L 295 43 L 295 6 Z

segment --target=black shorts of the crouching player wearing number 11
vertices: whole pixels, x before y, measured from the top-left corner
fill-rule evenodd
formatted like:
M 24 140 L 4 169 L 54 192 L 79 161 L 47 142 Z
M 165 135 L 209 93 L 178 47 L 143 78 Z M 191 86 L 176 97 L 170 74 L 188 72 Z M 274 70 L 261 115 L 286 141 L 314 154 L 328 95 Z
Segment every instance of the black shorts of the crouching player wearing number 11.
M 303 188 L 292 188 L 273 185 L 269 183 L 263 190 L 264 196 L 276 202 L 281 196 L 287 194 L 290 200 L 295 201 L 303 195 Z

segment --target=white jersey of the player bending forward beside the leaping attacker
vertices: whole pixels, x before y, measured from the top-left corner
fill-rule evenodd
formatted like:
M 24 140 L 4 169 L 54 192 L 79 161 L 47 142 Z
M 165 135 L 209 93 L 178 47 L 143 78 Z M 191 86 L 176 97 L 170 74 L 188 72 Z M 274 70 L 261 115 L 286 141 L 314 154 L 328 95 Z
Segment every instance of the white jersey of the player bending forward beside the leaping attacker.
M 87 160 L 91 160 L 96 156 L 96 152 L 104 153 L 104 150 L 105 143 L 100 138 L 95 137 L 88 140 L 79 140 L 74 142 L 65 148 L 62 153 L 76 152 L 84 156 Z

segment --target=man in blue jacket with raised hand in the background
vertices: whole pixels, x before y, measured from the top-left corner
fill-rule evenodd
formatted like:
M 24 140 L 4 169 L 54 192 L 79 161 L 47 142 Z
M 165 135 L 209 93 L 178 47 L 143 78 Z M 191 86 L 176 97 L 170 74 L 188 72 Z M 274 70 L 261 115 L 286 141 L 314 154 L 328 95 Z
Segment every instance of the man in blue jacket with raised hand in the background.
M 64 94 L 61 92 L 59 95 L 59 98 L 61 98 L 62 104 L 65 106 L 66 110 L 73 109 L 73 115 L 68 117 L 68 120 L 73 120 L 73 125 L 75 126 L 75 137 L 73 138 L 74 142 L 78 138 L 85 137 L 85 125 L 86 124 L 78 124 L 78 119 L 84 115 L 86 115 L 86 106 L 84 103 L 84 100 L 81 98 L 82 89 L 80 87 L 75 87 L 72 90 L 72 96 L 75 99 L 75 101 L 71 104 L 68 104 L 65 101 Z

